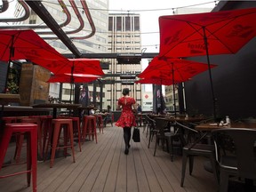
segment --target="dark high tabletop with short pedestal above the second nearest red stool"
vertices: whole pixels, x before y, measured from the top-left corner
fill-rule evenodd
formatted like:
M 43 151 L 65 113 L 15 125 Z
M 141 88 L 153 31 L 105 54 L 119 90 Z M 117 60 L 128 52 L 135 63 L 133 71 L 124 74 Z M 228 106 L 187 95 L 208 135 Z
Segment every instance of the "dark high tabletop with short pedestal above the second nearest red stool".
M 69 103 L 40 103 L 32 105 L 33 108 L 53 108 L 52 118 L 57 117 L 57 108 L 76 109 L 81 107 L 81 104 L 69 104 Z

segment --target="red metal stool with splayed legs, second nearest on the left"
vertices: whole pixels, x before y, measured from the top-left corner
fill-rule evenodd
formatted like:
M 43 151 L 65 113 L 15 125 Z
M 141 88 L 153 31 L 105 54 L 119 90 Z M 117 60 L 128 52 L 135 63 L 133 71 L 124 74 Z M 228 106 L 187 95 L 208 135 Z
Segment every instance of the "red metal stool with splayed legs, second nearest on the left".
M 63 137 L 64 137 L 64 145 L 60 146 L 60 133 L 61 128 L 63 128 Z M 49 145 L 51 145 L 52 142 L 52 153 L 51 153 L 51 161 L 50 161 L 50 167 L 52 168 L 56 149 L 64 148 L 64 156 L 67 156 L 67 148 L 72 149 L 72 155 L 73 155 L 73 162 L 75 163 L 75 149 L 74 149 L 74 140 L 73 140 L 73 125 L 72 125 L 72 119 L 52 119 L 52 132 L 50 132 L 49 140 L 47 141 L 46 145 L 46 155 L 48 154 L 48 148 Z M 68 137 L 69 135 L 69 137 Z M 70 144 L 68 144 L 68 139 L 70 139 Z

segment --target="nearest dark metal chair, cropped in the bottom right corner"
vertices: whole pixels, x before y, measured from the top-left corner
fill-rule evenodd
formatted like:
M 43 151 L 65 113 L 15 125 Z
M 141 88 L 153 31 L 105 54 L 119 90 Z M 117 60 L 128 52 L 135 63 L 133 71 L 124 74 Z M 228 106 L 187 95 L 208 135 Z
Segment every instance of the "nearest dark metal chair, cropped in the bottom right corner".
M 231 176 L 245 183 L 244 191 L 255 191 L 253 180 L 256 180 L 256 130 L 223 128 L 212 131 L 212 138 L 220 166 L 219 191 L 228 191 L 228 180 Z

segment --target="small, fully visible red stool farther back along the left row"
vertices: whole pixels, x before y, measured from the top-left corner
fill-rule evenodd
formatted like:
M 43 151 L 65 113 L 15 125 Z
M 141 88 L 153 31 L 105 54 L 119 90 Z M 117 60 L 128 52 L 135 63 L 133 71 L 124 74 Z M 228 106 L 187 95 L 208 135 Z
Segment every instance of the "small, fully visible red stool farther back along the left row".
M 96 116 L 84 116 L 84 126 L 82 133 L 83 140 L 85 140 L 87 135 L 89 135 L 89 140 L 91 139 L 91 135 L 92 140 L 94 140 L 95 136 L 96 143 L 98 143 L 96 130 Z

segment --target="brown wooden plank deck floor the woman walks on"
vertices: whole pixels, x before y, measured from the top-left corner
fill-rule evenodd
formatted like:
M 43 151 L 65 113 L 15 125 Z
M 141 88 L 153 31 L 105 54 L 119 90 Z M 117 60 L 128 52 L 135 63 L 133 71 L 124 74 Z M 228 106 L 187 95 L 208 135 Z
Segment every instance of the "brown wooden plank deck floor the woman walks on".
M 181 157 L 175 156 L 171 162 L 160 148 L 153 156 L 154 141 L 148 148 L 146 133 L 142 133 L 142 128 L 140 132 L 141 142 L 131 143 L 128 156 L 124 155 L 123 130 L 108 124 L 103 134 L 98 133 L 98 144 L 86 141 L 82 152 L 76 146 L 76 163 L 72 163 L 71 156 L 55 159 L 52 168 L 49 161 L 38 162 L 37 191 L 217 191 L 213 175 L 204 170 L 205 159 L 200 157 L 195 158 L 193 175 L 187 173 L 184 187 L 180 188 Z M 14 169 L 5 167 L 0 174 Z M 27 187 L 26 175 L 22 174 L 1 179 L 0 191 L 27 192 L 31 187 Z

